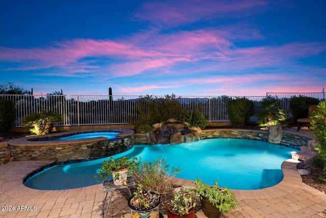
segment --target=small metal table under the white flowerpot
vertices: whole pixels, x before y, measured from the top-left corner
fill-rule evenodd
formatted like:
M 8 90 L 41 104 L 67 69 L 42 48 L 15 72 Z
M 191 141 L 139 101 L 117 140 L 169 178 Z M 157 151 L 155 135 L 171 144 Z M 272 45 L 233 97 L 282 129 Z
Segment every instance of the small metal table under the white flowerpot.
M 108 208 L 110 207 L 110 204 L 111 204 L 111 200 L 112 200 L 112 196 L 113 196 L 113 192 L 114 191 L 121 190 L 121 189 L 127 189 L 128 192 L 129 192 L 129 196 L 131 197 L 131 192 L 130 192 L 129 187 L 135 185 L 135 182 L 133 180 L 133 177 L 128 177 L 127 178 L 127 183 L 128 183 L 128 185 L 115 185 L 114 182 L 113 182 L 113 179 L 103 181 L 103 191 L 105 193 L 105 196 L 104 196 L 104 200 L 103 200 L 102 217 L 106 217 L 106 215 L 107 215 Z M 106 202 L 106 198 L 107 198 L 107 193 L 108 192 L 111 193 L 111 196 L 110 196 L 110 199 L 108 200 L 108 204 L 107 204 L 107 208 L 106 208 L 105 216 L 104 216 L 104 207 L 105 207 L 105 202 Z

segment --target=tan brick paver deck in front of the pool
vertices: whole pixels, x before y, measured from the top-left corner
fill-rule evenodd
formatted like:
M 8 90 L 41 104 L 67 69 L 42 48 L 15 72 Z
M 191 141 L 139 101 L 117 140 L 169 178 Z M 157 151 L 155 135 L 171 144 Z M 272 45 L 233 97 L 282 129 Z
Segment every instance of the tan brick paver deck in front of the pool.
M 289 129 L 296 133 L 296 128 Z M 312 136 L 308 129 L 299 134 Z M 68 190 L 36 190 L 23 185 L 26 175 L 51 161 L 19 161 L 0 165 L 0 217 L 101 217 L 102 184 Z M 302 182 L 296 161 L 282 164 L 284 179 L 276 186 L 259 190 L 234 190 L 239 207 L 221 217 L 326 217 L 326 195 Z M 177 179 L 179 185 L 192 185 Z M 14 206 L 13 210 L 8 207 Z M 12 209 L 12 208 L 11 208 Z M 167 217 L 167 215 L 164 215 Z M 202 211 L 197 218 L 205 218 Z M 115 191 L 107 217 L 129 218 L 126 199 Z

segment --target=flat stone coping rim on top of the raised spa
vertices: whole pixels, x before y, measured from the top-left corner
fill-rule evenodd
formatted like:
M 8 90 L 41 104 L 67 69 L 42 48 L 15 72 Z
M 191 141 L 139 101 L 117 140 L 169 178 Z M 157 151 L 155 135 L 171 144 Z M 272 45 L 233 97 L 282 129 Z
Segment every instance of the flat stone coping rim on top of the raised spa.
M 124 138 L 134 133 L 133 130 L 129 130 L 129 129 L 74 130 L 74 131 L 66 131 L 60 133 L 51 133 L 46 135 L 26 136 L 26 137 L 16 138 L 8 141 L 8 144 L 10 146 L 16 146 L 16 147 L 21 147 L 21 146 L 33 147 L 33 146 L 53 146 L 57 144 L 72 144 L 72 143 L 83 143 L 83 142 L 87 143 L 87 142 L 107 140 L 106 137 L 94 137 L 94 138 L 60 140 L 60 141 L 50 141 L 50 140 L 37 141 L 36 140 L 37 138 L 69 136 L 75 133 L 91 133 L 91 132 L 118 132 L 119 133 L 116 135 L 117 138 L 109 139 L 109 141 L 120 140 L 120 138 Z

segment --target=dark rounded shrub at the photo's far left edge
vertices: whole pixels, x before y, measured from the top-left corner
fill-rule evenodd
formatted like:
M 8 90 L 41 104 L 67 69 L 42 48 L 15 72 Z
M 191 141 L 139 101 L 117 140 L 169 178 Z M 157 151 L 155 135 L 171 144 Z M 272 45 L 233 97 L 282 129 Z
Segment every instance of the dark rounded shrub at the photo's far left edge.
M 10 100 L 0 99 L 0 132 L 7 132 L 15 119 L 15 104 Z

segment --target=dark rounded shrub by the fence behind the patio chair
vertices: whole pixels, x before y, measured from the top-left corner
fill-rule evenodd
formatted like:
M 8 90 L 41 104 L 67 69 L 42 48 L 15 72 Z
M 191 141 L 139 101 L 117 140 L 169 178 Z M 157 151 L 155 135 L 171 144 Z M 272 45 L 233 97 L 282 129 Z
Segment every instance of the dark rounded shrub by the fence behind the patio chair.
M 319 100 L 307 96 L 294 96 L 290 100 L 290 110 L 293 120 L 296 122 L 298 118 L 308 117 L 310 105 L 318 105 Z

